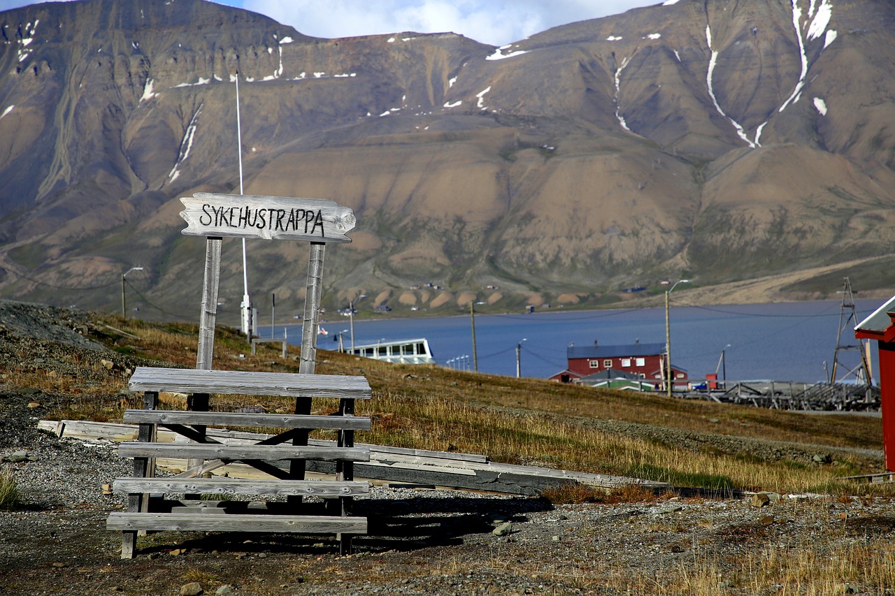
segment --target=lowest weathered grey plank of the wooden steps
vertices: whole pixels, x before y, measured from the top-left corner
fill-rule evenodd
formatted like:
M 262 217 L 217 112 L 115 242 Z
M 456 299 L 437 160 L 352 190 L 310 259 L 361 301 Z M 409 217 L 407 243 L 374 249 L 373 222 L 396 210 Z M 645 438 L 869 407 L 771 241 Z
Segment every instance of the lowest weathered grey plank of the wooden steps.
M 367 533 L 366 517 L 333 515 L 193 515 L 190 513 L 139 514 L 113 511 L 107 530 L 168 530 L 175 532 L 290 532 L 302 534 Z

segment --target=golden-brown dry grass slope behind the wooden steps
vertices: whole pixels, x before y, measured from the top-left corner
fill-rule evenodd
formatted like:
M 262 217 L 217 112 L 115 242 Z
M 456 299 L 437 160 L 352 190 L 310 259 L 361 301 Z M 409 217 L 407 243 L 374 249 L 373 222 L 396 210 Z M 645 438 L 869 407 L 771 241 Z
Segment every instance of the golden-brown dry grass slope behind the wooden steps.
M 107 326 L 108 327 L 107 327 Z M 115 329 L 120 329 L 123 334 Z M 195 365 L 197 328 L 153 324 L 105 316 L 90 338 L 118 354 L 100 362 L 76 362 L 84 372 L 51 375 L 39 367 L 9 371 L 22 387 L 38 387 L 65 396 L 58 418 L 114 421 L 127 407 L 140 407 L 139 396 L 123 396 L 134 363 L 154 359 L 160 365 Z M 135 338 L 136 337 L 136 338 Z M 139 339 L 137 339 L 139 338 Z M 297 372 L 297 348 L 280 358 L 278 345 L 259 345 L 251 355 L 245 339 L 218 328 L 215 366 L 232 370 Z M 74 357 L 77 359 L 77 357 Z M 81 357 L 82 358 L 82 357 Z M 141 359 L 140 362 L 134 359 Z M 765 461 L 708 447 L 683 447 L 662 440 L 662 429 L 737 435 L 831 447 L 882 449 L 878 419 L 843 415 L 810 416 L 729 404 L 668 399 L 654 394 L 620 393 L 570 387 L 538 379 L 512 379 L 447 370 L 436 366 L 396 366 L 341 353 L 318 352 L 318 372 L 362 375 L 373 399 L 358 404 L 370 415 L 373 430 L 358 440 L 396 447 L 458 450 L 494 461 L 534 464 L 592 473 L 609 473 L 708 490 L 823 491 L 874 494 L 880 485 L 840 481 L 845 475 L 878 472 L 860 456 L 837 456 L 828 465 Z M 172 396 L 168 407 L 182 407 Z M 165 400 L 163 399 L 163 402 Z M 318 400 L 315 400 L 315 402 Z M 268 411 L 290 412 L 294 401 L 278 397 L 227 396 L 212 400 L 220 410 L 260 404 Z M 337 407 L 322 400 L 320 413 Z M 595 428 L 594 420 L 652 427 L 651 438 Z M 321 434 L 320 437 L 323 437 Z

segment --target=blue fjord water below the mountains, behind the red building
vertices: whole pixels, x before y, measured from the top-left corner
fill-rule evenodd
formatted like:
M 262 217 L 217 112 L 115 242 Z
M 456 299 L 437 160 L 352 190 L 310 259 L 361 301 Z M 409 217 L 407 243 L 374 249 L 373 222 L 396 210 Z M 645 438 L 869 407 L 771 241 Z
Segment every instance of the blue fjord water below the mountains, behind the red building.
M 681 301 L 683 302 L 683 301 Z M 855 302 L 857 321 L 842 332 L 841 345 L 856 345 L 852 327 L 876 310 L 882 300 Z M 724 370 L 728 380 L 772 379 L 822 381 L 828 376 L 840 328 L 840 302 L 784 302 L 720 306 L 675 306 L 670 309 L 671 362 L 687 370 L 690 379 Z M 845 312 L 847 318 L 850 310 Z M 345 347 L 351 345 L 348 319 L 328 316 L 321 326 L 328 336 L 318 336 L 321 349 L 335 350 L 339 332 L 345 330 Z M 455 317 L 408 319 L 354 319 L 355 345 L 425 337 L 436 361 L 453 368 L 473 368 L 473 341 L 468 314 Z M 300 325 L 286 326 L 290 343 L 301 343 Z M 262 329 L 269 336 L 269 327 Z M 277 326 L 276 336 L 283 335 Z M 665 343 L 665 311 L 662 308 L 611 311 L 551 311 L 475 316 L 479 371 L 516 375 L 516 346 L 521 344 L 523 377 L 546 378 L 566 369 L 569 345 Z M 727 346 L 727 347 L 726 347 Z M 874 379 L 876 370 L 873 345 Z M 724 362 L 720 366 L 721 351 Z M 857 365 L 856 350 L 840 352 L 841 377 Z M 843 368 L 844 367 L 844 368 Z

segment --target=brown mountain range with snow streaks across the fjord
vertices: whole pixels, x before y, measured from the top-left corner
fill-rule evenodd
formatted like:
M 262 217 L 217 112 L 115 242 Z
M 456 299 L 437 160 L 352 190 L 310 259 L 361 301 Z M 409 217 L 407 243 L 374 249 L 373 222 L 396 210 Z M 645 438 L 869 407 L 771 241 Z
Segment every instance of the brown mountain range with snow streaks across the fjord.
M 311 38 L 202 0 L 6 11 L 0 295 L 115 310 L 141 266 L 129 303 L 195 319 L 178 198 L 240 191 L 237 78 L 244 193 L 357 216 L 329 308 L 594 305 L 679 277 L 890 294 L 893 31 L 888 0 L 672 0 L 506 47 Z M 247 251 L 256 304 L 301 312 L 307 246 Z M 235 323 L 241 243 L 223 263 Z

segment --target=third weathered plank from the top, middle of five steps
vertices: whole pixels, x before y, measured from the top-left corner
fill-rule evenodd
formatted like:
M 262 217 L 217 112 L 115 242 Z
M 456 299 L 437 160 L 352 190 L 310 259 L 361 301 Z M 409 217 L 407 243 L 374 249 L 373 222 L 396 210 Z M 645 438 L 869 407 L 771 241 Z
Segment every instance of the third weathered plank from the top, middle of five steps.
M 133 441 L 120 443 L 118 454 L 124 457 L 176 457 L 183 459 L 223 459 L 223 460 L 283 460 L 310 459 L 327 462 L 351 461 L 369 462 L 370 449 L 363 447 L 316 447 L 283 445 L 221 445 L 221 444 L 177 444 L 143 443 Z

